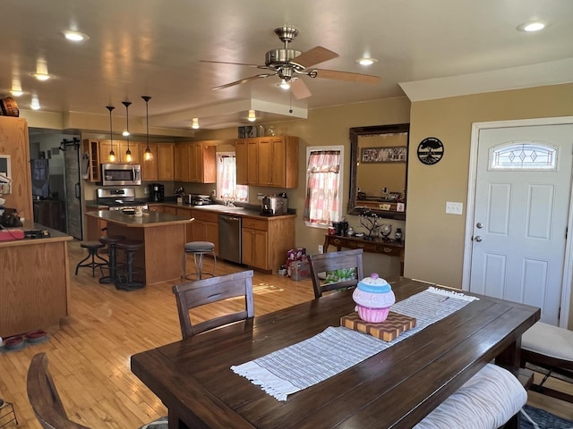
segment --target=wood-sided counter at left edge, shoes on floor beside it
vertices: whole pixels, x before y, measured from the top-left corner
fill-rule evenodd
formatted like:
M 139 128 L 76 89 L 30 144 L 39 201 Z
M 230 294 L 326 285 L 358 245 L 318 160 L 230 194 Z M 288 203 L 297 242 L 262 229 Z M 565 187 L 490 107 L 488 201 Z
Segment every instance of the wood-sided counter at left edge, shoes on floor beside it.
M 19 230 L 45 230 L 49 237 L 0 241 L 0 337 L 3 338 L 58 329 L 62 319 L 69 315 L 67 242 L 73 237 L 38 223 L 24 223 L 16 229 Z

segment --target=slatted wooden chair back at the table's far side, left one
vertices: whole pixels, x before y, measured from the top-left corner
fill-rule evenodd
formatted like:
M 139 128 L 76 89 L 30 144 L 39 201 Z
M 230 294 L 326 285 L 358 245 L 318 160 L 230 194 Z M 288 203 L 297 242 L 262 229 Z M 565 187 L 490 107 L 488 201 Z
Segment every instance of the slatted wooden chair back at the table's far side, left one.
M 183 339 L 224 324 L 231 324 L 254 317 L 252 274 L 252 270 L 250 270 L 173 286 Z M 241 311 L 219 315 L 209 320 L 192 324 L 191 316 L 189 315 L 189 310 L 192 308 L 238 297 L 244 298 L 244 307 Z

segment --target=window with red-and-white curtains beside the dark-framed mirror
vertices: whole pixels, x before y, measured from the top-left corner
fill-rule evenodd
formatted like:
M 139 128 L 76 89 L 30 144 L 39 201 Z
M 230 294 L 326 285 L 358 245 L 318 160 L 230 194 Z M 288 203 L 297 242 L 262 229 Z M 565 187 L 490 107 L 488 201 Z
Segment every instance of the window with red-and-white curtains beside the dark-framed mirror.
M 344 147 L 306 149 L 306 198 L 304 222 L 327 228 L 342 218 L 342 170 Z

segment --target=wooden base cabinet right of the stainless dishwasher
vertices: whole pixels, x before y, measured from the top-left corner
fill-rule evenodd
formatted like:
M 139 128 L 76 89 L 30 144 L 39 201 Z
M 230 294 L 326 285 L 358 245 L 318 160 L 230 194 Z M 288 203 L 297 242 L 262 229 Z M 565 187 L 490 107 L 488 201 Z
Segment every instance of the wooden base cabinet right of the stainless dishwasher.
M 277 273 L 295 248 L 295 215 L 268 219 L 243 216 L 243 264 Z

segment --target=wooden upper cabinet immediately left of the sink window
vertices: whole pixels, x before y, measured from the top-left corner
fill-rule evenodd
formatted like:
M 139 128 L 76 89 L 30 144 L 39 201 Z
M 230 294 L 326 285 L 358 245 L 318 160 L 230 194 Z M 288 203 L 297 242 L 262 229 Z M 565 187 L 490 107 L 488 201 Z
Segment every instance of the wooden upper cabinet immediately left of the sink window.
M 191 141 L 175 145 L 175 181 L 215 183 L 218 141 Z

